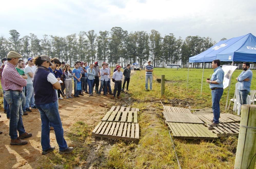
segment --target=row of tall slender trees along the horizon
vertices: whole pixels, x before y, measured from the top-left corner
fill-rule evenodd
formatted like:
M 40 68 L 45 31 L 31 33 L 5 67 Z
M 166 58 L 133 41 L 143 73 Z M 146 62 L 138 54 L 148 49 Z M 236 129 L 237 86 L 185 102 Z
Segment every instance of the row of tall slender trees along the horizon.
M 100 31 L 99 34 L 94 30 L 66 37 L 45 34 L 43 39 L 38 39 L 33 33 L 21 38 L 16 30 L 10 30 L 9 34 L 8 39 L 0 37 L 1 59 L 9 51 L 16 51 L 24 58 L 46 54 L 72 66 L 76 61 L 106 61 L 113 66 L 116 63 L 126 65 L 134 62 L 142 65 L 151 60 L 153 66 L 164 67 L 164 64 L 173 63 L 187 68 L 189 57 L 216 43 L 209 37 L 188 36 L 182 40 L 181 37 L 175 38 L 172 33 L 162 37 L 156 30 L 128 33 L 120 27 L 113 27 L 110 32 Z

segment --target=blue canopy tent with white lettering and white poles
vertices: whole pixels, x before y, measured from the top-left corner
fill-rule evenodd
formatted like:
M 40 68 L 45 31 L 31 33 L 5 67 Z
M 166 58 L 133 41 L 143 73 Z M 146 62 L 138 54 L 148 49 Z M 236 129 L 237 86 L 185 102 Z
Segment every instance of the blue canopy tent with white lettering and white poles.
M 205 63 L 220 59 L 221 62 L 256 62 L 256 37 L 251 33 L 246 35 L 223 40 L 206 51 L 189 58 L 189 63 Z M 204 73 L 204 64 L 203 64 Z M 189 72 L 188 72 L 189 77 Z M 187 81 L 188 85 L 188 81 Z M 201 83 L 201 95 L 203 87 L 203 75 Z M 229 83 L 230 89 L 230 83 Z M 228 90 L 229 96 L 229 90 Z M 227 98 L 228 102 L 228 98 Z M 226 104 L 227 108 L 227 104 Z

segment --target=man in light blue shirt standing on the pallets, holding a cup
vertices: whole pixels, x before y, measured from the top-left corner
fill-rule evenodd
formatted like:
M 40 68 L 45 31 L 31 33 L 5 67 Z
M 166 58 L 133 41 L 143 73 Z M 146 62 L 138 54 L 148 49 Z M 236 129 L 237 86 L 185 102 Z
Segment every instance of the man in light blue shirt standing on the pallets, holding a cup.
M 220 99 L 223 94 L 223 80 L 224 80 L 224 71 L 220 67 L 220 60 L 212 61 L 212 68 L 214 73 L 212 74 L 211 80 L 206 80 L 207 83 L 210 83 L 209 86 L 212 90 L 212 111 L 213 111 L 213 120 L 211 127 L 219 125 L 220 118 Z

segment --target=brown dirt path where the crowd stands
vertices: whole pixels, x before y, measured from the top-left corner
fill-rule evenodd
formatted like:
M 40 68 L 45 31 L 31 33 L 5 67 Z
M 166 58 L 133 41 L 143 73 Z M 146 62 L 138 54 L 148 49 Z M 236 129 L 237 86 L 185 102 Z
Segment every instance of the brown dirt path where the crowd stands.
M 131 74 L 134 74 L 132 71 Z M 112 91 L 114 83 L 111 81 Z M 74 93 L 74 90 L 73 90 Z M 126 104 L 125 100 L 121 99 L 119 103 L 116 103 L 116 99 L 107 96 L 93 95 L 88 97 L 88 94 L 84 94 L 80 98 L 63 99 L 59 100 L 59 112 L 64 129 L 64 137 L 68 131 L 68 128 L 77 121 L 83 121 L 84 123 L 92 126 L 96 126 L 105 113 L 110 109 L 110 105 L 114 104 Z M 6 114 L 0 112 L 2 116 L 0 118 L 0 131 L 3 134 L 0 135 L 0 161 L 1 168 L 36 168 L 40 167 L 38 161 L 42 161 L 45 156 L 41 155 L 41 118 L 37 109 L 32 110 L 27 116 L 23 116 L 23 124 L 26 132 L 31 132 L 32 137 L 26 138 L 28 144 L 24 146 L 11 146 L 9 137 L 9 120 L 6 118 Z M 54 131 L 50 131 L 51 146 L 55 146 L 58 149 L 58 144 L 55 139 Z M 104 151 L 107 151 L 113 145 L 111 140 L 102 140 L 98 138 L 91 138 L 92 149 L 87 158 L 86 168 L 92 168 L 92 162 L 95 160 L 95 152 L 104 146 Z M 68 142 L 68 144 L 72 144 Z M 99 159 L 97 159 L 99 160 Z M 99 161 L 100 163 L 100 161 Z

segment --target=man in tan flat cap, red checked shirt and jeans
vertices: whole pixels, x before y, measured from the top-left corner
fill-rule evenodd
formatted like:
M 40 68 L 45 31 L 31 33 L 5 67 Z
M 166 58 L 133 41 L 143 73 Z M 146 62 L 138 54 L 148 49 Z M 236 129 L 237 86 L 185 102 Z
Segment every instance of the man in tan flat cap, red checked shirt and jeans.
M 22 139 L 32 136 L 31 133 L 25 132 L 22 122 L 22 100 L 25 99 L 22 90 L 27 81 L 15 69 L 19 58 L 22 58 L 22 56 L 17 52 L 9 52 L 2 74 L 2 88 L 5 90 L 4 98 L 10 106 L 9 135 L 11 136 L 11 145 L 27 144 L 27 141 Z M 19 137 L 17 130 L 19 131 Z

